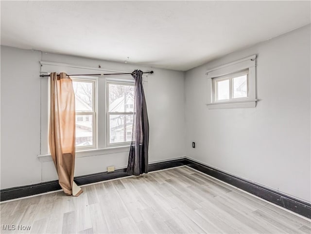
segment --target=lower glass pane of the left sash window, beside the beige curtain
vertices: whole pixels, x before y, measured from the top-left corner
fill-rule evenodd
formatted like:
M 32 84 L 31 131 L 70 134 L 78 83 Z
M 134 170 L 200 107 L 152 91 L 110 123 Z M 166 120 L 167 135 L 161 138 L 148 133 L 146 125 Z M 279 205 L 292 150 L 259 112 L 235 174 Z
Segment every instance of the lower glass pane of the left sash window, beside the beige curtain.
M 76 115 L 76 146 L 93 145 L 92 115 Z

